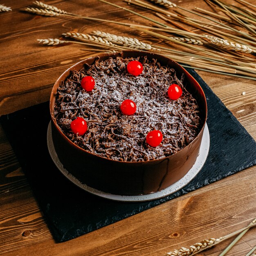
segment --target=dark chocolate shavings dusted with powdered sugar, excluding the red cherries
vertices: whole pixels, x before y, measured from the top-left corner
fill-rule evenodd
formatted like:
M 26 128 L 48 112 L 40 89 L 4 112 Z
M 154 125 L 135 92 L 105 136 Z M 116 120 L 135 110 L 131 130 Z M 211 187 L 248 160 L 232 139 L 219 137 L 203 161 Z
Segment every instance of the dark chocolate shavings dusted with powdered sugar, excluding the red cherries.
M 143 72 L 133 76 L 127 64 L 138 60 Z M 92 76 L 95 87 L 87 92 L 81 79 Z M 182 88 L 182 95 L 171 100 L 167 91 L 171 84 Z M 184 74 L 177 78 L 175 70 L 146 57 L 97 59 L 80 71 L 71 71 L 57 90 L 54 115 L 62 132 L 77 146 L 101 157 L 141 162 L 170 156 L 187 146 L 202 127 L 199 107 L 186 90 Z M 136 103 L 133 115 L 124 115 L 121 103 L 130 99 Z M 88 130 L 74 134 L 72 120 L 83 117 Z M 146 143 L 146 135 L 160 130 L 162 142 L 157 147 Z

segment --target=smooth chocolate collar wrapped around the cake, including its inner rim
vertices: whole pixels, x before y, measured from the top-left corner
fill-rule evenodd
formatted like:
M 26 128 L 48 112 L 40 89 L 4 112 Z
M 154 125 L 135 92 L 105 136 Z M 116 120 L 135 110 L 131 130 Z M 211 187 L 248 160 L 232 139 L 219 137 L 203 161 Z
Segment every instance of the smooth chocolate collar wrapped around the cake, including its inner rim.
M 160 159 L 126 162 L 101 157 L 90 153 L 74 144 L 67 138 L 56 123 L 54 105 L 58 88 L 70 76 L 71 70 L 79 72 L 84 64 L 93 65 L 96 60 L 104 61 L 109 57 L 137 58 L 147 56 L 149 61 L 157 59 L 161 65 L 168 65 L 175 69 L 177 78 L 184 74 L 184 84 L 197 100 L 202 126 L 195 139 L 181 150 L 168 157 Z M 181 80 L 181 79 L 180 79 Z M 207 117 L 207 105 L 200 85 L 180 65 L 169 58 L 159 54 L 139 51 L 123 51 L 115 54 L 102 54 L 99 57 L 88 58 L 81 61 L 64 72 L 56 81 L 50 99 L 50 112 L 52 117 L 52 135 L 54 147 L 63 166 L 76 176 L 81 182 L 104 192 L 121 195 L 139 195 L 153 193 L 170 186 L 180 180 L 195 163 L 198 156 L 203 128 Z

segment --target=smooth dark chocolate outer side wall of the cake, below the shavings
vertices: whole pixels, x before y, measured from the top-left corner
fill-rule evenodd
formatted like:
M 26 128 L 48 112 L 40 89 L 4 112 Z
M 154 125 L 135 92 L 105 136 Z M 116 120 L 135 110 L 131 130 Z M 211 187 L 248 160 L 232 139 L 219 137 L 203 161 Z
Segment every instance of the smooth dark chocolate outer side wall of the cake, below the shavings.
M 202 134 L 188 147 L 169 157 L 146 162 L 117 162 L 86 153 L 63 139 L 54 124 L 56 153 L 78 180 L 94 189 L 121 195 L 153 193 L 180 180 L 198 156 Z

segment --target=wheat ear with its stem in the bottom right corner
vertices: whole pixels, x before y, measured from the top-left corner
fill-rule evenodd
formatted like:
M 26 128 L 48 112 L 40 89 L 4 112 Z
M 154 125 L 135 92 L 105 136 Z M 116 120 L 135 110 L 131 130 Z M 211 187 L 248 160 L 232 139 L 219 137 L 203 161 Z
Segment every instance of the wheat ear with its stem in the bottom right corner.
M 227 240 L 231 238 L 232 236 L 236 236 L 237 234 L 240 234 L 241 232 L 247 231 L 249 228 L 256 226 L 256 219 L 254 219 L 247 227 L 244 227 L 243 229 L 239 229 L 231 234 L 228 234 L 226 236 L 221 236 L 220 238 L 209 238 L 204 239 L 200 243 L 196 243 L 194 245 L 191 245 L 189 248 L 181 247 L 181 249 L 177 250 L 175 249 L 173 252 L 167 252 L 165 256 L 189 256 L 189 255 L 195 255 L 199 252 L 204 251 L 205 249 L 209 249 L 213 247 L 214 245 L 217 245 L 218 243 Z M 241 233 L 242 234 L 242 233 Z

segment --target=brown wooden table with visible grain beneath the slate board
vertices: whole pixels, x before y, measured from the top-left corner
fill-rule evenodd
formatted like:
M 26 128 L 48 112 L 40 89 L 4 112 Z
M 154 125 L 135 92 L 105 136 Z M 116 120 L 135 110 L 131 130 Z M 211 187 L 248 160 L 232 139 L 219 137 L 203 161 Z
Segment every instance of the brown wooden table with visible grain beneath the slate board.
M 195 6 L 207 8 L 203 0 L 174 2 L 187 9 Z M 61 38 L 61 34 L 67 31 L 90 32 L 95 29 L 137 36 L 141 40 L 149 38 L 106 22 L 42 17 L 19 11 L 30 3 L 25 0 L 5 1 L 13 11 L 0 13 L 0 115 L 48 101 L 58 76 L 73 63 L 95 54 L 81 51 L 83 47 L 74 44 L 44 47 L 36 39 Z M 139 17 L 96 0 L 47 3 L 95 18 L 143 22 Z M 124 2 L 119 4 L 127 7 Z M 135 7 L 128 8 L 135 10 Z M 153 17 L 148 11 L 138 10 Z M 256 139 L 255 81 L 198 73 Z M 242 92 L 246 94 L 242 95 Z M 256 166 L 248 168 L 115 224 L 65 243 L 55 243 L 0 128 L 0 254 L 161 256 L 204 238 L 218 238 L 246 226 L 256 217 L 255 171 Z M 231 240 L 198 255 L 217 256 Z M 255 245 L 256 230 L 252 229 L 227 255 L 243 256 Z

